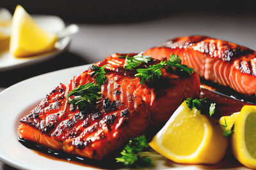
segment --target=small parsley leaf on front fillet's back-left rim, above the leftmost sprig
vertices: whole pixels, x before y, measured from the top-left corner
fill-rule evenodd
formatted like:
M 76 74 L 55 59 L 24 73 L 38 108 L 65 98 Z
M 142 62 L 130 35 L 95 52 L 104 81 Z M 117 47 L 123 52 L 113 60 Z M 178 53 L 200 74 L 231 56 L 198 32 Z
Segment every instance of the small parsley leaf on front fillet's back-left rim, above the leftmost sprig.
M 99 66 L 92 66 L 92 70 L 94 71 L 91 76 L 95 78 L 96 83 L 101 86 L 104 83 L 106 83 L 106 71 L 105 71 L 106 65 L 99 67 Z

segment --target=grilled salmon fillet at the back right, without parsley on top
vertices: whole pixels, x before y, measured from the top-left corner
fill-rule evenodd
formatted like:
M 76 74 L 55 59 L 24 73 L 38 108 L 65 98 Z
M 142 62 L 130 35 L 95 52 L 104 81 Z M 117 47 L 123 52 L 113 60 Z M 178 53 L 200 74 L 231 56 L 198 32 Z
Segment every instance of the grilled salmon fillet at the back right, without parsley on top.
M 247 96 L 256 94 L 256 53 L 250 48 L 207 36 L 174 38 L 144 52 L 155 59 L 179 55 L 200 77 Z

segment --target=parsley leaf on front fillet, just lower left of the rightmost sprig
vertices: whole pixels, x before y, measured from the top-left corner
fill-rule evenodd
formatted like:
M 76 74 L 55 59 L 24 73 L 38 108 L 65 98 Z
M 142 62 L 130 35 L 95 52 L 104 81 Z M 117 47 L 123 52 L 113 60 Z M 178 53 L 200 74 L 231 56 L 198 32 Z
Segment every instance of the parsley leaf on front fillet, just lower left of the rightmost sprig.
M 136 69 L 138 72 L 134 76 L 140 77 L 140 83 L 143 85 L 145 81 L 153 81 L 154 79 L 160 79 L 162 76 L 161 69 L 165 66 L 165 61 L 161 61 L 156 65 L 147 67 L 146 69 Z

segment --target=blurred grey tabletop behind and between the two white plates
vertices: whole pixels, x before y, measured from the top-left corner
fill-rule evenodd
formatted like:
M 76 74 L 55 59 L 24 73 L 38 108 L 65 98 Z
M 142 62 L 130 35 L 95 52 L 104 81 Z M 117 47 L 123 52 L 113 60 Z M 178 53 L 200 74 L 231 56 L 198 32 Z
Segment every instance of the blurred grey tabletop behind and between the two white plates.
M 115 52 L 142 52 L 177 36 L 206 35 L 256 50 L 253 15 L 173 15 L 132 24 L 79 24 L 66 52 L 33 66 L 0 72 L 0 92 L 33 76 L 97 62 Z M 0 169 L 15 169 L 0 161 Z

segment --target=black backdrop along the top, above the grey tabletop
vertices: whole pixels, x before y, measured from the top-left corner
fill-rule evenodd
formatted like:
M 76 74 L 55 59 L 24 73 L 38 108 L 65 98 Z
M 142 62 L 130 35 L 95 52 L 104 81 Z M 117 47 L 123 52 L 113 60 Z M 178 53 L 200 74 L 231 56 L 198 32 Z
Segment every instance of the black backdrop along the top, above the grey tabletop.
M 256 15 L 255 1 L 150 1 L 150 0 L 1 0 L 12 13 L 17 4 L 29 13 L 58 15 L 65 22 L 115 24 L 140 22 L 182 13 Z

